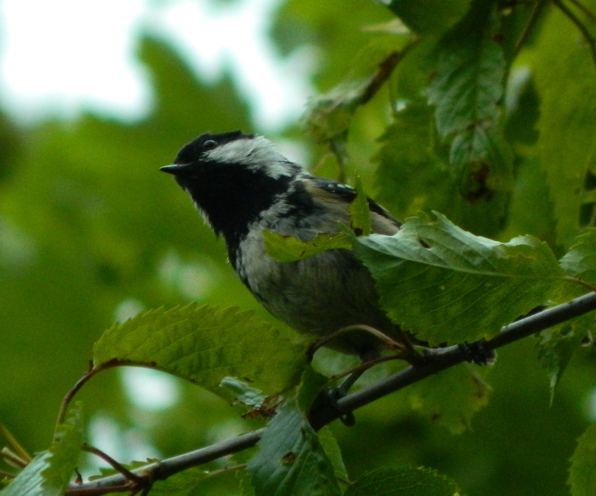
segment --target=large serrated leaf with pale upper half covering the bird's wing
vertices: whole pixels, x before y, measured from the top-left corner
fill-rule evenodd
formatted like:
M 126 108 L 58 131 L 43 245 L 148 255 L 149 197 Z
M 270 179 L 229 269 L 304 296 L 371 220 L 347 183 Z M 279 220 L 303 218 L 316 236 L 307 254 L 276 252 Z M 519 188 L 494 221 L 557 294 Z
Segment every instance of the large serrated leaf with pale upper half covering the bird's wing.
M 430 345 L 495 336 L 561 286 L 546 243 L 529 235 L 499 243 L 434 215 L 407 219 L 393 236 L 354 239 L 389 317 Z

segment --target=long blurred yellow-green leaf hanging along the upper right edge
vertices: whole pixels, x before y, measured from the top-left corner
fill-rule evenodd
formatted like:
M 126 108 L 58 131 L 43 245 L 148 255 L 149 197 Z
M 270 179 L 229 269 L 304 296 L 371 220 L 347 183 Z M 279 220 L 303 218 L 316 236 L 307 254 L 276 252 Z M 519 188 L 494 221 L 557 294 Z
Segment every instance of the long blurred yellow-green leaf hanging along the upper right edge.
M 578 36 L 576 27 L 553 9 L 532 53 L 541 95 L 537 150 L 563 246 L 578 234 L 582 192 L 596 148 L 594 63 L 588 44 L 578 43 Z

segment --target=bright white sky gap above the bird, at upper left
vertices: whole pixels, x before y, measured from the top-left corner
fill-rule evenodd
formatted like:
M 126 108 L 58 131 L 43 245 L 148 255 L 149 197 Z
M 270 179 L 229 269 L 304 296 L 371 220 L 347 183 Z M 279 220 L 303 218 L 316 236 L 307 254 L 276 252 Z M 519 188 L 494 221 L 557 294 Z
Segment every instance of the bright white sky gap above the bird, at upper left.
M 281 60 L 266 38 L 277 0 L 4 0 L 0 3 L 0 94 L 15 119 L 76 116 L 82 107 L 124 120 L 151 110 L 139 33 L 172 40 L 206 81 L 232 67 L 253 101 L 257 125 L 296 120 L 311 93 L 305 49 Z

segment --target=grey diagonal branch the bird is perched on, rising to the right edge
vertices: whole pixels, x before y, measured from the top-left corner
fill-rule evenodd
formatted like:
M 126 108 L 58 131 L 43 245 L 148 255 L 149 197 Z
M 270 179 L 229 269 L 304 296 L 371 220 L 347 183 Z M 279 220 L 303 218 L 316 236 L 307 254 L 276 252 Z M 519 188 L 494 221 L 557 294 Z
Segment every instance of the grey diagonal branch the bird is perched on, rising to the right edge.
M 567 303 L 548 308 L 506 325 L 497 336 L 482 344 L 487 350 L 501 348 L 501 346 L 508 345 L 553 325 L 561 324 L 594 310 L 596 310 L 596 293 L 584 294 Z M 364 407 L 364 405 L 368 405 L 383 396 L 432 376 L 441 370 L 465 362 L 466 358 L 466 351 L 461 346 L 456 345 L 435 349 L 432 351 L 432 355 L 426 364 L 418 367 L 407 367 L 367 388 L 340 398 L 336 405 L 331 405 L 329 402 L 318 405 L 311 411 L 309 420 L 314 429 L 321 429 L 321 427 L 331 423 L 333 420 L 339 419 L 339 417 L 350 411 Z M 167 458 L 166 460 L 149 464 L 140 469 L 132 470 L 132 472 L 139 476 L 151 474 L 153 481 L 166 479 L 190 467 L 217 460 L 226 455 L 253 447 L 259 441 L 264 430 L 264 428 L 254 430 L 229 441 Z M 69 496 L 107 494 L 107 492 L 113 491 L 114 488 L 121 487 L 124 483 L 126 483 L 126 478 L 121 474 L 117 474 L 92 482 L 70 485 L 66 494 Z

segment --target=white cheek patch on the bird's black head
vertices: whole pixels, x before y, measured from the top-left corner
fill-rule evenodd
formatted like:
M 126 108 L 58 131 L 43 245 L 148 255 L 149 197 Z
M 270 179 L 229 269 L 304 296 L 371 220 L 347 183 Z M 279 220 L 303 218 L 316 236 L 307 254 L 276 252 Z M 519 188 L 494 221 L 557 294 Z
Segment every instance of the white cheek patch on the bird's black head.
M 219 163 L 238 163 L 249 169 L 266 170 L 274 179 L 295 173 L 295 170 L 288 167 L 288 159 L 275 150 L 271 141 L 262 136 L 225 143 L 207 152 L 204 157 Z

